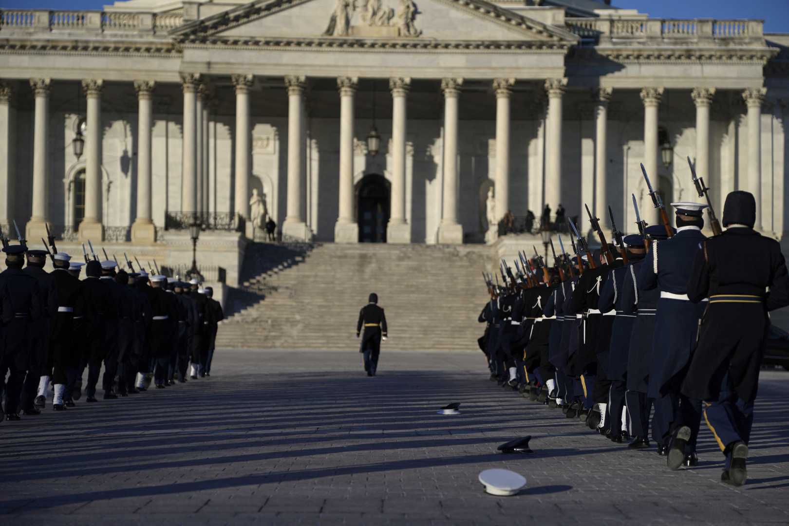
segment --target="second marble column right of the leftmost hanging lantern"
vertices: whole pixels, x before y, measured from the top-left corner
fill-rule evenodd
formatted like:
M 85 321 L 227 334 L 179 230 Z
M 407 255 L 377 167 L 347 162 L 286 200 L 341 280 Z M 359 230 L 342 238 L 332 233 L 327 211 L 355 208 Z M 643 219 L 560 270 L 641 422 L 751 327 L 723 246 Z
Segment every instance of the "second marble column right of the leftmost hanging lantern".
M 156 229 L 151 215 L 151 129 L 153 128 L 153 80 L 135 80 L 137 91 L 137 213 L 132 242 L 151 244 Z

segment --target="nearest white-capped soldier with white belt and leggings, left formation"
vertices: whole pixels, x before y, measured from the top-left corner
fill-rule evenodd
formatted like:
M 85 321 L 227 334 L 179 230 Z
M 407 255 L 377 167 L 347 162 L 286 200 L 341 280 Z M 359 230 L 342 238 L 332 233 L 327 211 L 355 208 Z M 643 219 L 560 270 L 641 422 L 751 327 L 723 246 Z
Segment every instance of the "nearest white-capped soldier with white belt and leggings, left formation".
M 80 280 L 69 273 L 69 259 L 65 252 L 54 255 L 52 270 L 54 288 L 58 297 L 58 308 L 52 319 L 52 336 L 50 338 L 50 360 L 52 364 L 52 382 L 54 383 L 54 397 L 52 408 L 62 411 L 67 406 L 73 406 L 73 401 L 67 396 L 66 387 L 73 385 L 80 367 L 80 349 L 77 339 L 81 334 L 74 332 L 74 308 L 80 295 Z M 43 377 L 42 377 L 43 378 Z M 46 387 L 39 397 L 36 405 L 43 407 L 46 400 Z M 67 404 L 67 402 L 69 402 Z

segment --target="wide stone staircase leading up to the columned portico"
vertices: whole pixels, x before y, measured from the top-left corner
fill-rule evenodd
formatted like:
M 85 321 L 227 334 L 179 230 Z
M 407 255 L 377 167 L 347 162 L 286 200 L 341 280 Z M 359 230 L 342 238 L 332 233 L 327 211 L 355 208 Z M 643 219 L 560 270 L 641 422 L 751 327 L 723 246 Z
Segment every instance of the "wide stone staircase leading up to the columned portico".
M 250 244 L 218 347 L 356 349 L 368 294 L 380 297 L 391 350 L 473 350 L 487 300 L 484 246 Z

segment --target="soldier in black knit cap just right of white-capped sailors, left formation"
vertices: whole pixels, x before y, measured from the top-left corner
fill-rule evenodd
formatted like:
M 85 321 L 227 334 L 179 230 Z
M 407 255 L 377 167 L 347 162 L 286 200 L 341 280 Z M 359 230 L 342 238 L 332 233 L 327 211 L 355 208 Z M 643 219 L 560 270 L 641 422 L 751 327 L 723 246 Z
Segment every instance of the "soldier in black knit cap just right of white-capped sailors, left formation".
M 85 278 L 80 287 L 80 299 L 77 301 L 77 315 L 84 319 L 84 349 L 80 362 L 80 372 L 77 373 L 77 382 L 74 384 L 73 398 L 79 400 L 81 396 L 82 375 L 85 368 L 88 368 L 88 386 L 85 394 L 88 395 L 85 401 L 97 402 L 95 397 L 96 384 L 99 382 L 99 372 L 101 364 L 107 354 L 104 348 L 104 332 L 106 330 L 105 320 L 107 311 L 114 306 L 110 305 L 110 290 L 107 282 L 102 281 L 101 263 L 98 261 L 88 261 L 85 265 Z M 75 315 L 75 317 L 77 316 Z

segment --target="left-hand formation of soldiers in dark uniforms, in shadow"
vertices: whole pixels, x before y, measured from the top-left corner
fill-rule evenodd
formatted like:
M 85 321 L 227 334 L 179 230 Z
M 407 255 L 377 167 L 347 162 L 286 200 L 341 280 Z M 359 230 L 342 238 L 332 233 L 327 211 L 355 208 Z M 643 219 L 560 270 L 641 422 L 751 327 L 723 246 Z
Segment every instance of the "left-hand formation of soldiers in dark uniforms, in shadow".
M 97 402 L 211 375 L 217 326 L 224 318 L 211 287 L 149 275 L 137 261 L 129 272 L 117 259 L 85 263 L 58 252 L 54 237 L 32 250 L 2 237 L 6 270 L 0 273 L 0 356 L 6 420 L 38 415 L 47 405 L 74 407 L 83 388 Z M 88 242 L 89 244 L 89 242 Z M 50 252 L 50 247 L 52 248 Z M 125 255 L 124 255 L 125 256 Z M 50 257 L 54 270 L 44 266 Z M 25 266 L 25 259 L 27 265 Z M 80 273 L 84 267 L 84 279 Z M 158 267 L 155 267 L 158 270 Z M 83 380 L 88 371 L 87 384 Z

